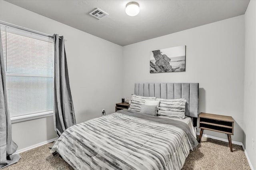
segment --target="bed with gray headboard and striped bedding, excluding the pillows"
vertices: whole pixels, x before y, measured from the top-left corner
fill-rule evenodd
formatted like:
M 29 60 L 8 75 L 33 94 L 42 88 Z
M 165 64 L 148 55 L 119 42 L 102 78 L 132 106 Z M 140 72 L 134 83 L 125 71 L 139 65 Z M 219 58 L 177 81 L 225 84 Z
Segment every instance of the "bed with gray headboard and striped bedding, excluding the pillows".
M 74 125 L 58 138 L 58 152 L 74 169 L 178 170 L 198 145 L 191 126 L 198 117 L 198 83 L 136 83 L 145 97 L 186 99 L 186 118 L 155 117 L 129 110 Z

